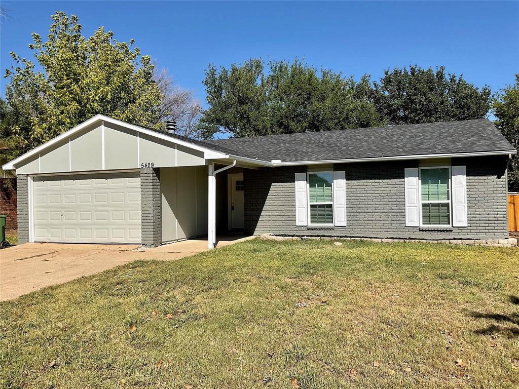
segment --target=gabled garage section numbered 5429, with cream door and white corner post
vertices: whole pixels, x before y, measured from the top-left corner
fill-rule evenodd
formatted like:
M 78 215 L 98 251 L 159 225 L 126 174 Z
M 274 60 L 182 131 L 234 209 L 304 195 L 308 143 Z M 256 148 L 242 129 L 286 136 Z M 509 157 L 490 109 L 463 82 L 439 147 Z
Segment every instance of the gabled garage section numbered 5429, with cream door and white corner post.
M 4 164 L 17 176 L 18 242 L 152 247 L 212 226 L 213 247 L 216 173 L 237 160 L 170 131 L 95 115 Z

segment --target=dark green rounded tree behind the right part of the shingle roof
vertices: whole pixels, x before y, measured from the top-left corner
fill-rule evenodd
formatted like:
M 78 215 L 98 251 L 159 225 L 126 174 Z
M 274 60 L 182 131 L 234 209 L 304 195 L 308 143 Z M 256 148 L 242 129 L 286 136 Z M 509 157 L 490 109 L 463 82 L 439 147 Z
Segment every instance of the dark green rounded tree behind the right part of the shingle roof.
M 446 75 L 443 66 L 386 70 L 374 87 L 377 110 L 388 124 L 481 119 L 491 103 L 489 87 L 480 90 L 462 75 Z

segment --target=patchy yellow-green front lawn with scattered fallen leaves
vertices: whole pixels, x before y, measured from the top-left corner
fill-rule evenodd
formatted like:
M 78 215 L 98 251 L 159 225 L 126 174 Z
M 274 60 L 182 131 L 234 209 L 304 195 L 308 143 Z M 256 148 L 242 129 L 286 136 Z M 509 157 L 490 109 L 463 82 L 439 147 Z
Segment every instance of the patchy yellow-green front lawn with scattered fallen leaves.
M 253 240 L 133 262 L 0 304 L 0 386 L 512 388 L 518 284 L 517 248 Z

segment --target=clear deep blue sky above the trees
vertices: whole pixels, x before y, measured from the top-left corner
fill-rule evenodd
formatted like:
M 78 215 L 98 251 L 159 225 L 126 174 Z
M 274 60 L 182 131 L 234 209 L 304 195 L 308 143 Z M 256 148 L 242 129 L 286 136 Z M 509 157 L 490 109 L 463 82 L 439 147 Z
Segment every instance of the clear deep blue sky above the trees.
M 207 64 L 251 57 L 304 59 L 374 78 L 386 68 L 445 65 L 477 86 L 502 88 L 519 73 L 519 2 L 170 2 L 2 1 L 2 74 L 9 52 L 32 58 L 31 33 L 50 15 L 74 13 L 91 35 L 99 26 L 134 38 L 204 103 Z M 6 80 L 2 78 L 2 95 Z

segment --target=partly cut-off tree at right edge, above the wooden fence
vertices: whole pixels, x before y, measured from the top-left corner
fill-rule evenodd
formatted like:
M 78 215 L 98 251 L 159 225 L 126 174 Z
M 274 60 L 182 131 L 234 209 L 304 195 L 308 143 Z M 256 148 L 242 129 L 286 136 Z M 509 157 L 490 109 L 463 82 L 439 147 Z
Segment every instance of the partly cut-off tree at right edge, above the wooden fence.
M 515 85 L 509 85 L 496 94 L 493 104 L 494 122 L 504 137 L 519 152 L 519 74 L 515 75 Z M 519 191 L 519 156 L 514 155 L 508 165 L 508 189 Z

